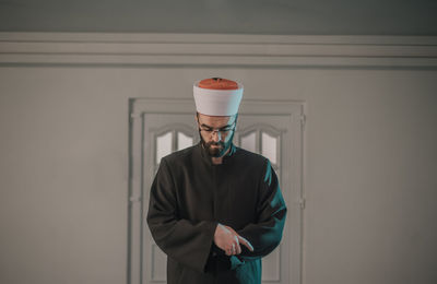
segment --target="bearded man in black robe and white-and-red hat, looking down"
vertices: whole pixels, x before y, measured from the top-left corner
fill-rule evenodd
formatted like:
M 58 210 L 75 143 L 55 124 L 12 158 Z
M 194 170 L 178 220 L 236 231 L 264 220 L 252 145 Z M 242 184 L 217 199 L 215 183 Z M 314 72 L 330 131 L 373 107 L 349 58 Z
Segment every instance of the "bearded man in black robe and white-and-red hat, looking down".
M 169 284 L 258 284 L 281 241 L 286 206 L 265 157 L 233 144 L 243 85 L 194 83 L 201 142 L 162 158 L 147 223 Z

